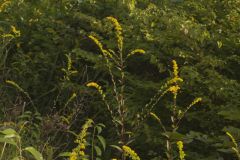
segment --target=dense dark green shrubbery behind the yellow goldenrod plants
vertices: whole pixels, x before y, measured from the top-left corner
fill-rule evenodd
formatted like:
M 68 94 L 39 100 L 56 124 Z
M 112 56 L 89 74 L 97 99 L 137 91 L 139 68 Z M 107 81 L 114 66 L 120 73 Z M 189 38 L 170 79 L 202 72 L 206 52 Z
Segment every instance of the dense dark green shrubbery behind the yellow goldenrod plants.
M 88 35 L 116 48 L 112 27 L 104 19 L 113 16 L 123 28 L 124 51 L 146 51 L 146 55 L 127 61 L 129 128 L 171 75 L 175 59 L 184 79 L 179 105 L 184 107 L 194 97 L 203 99 L 173 135 L 183 139 L 186 159 L 236 159 L 225 132 L 230 131 L 239 141 L 239 6 L 239 0 L 12 0 L 0 12 L 0 33 L 10 33 L 12 25 L 21 36 L 1 36 L 2 129 L 10 122 L 19 129 L 27 121 L 21 131 L 23 142 L 35 146 L 49 160 L 74 148 L 69 131 L 79 133 L 87 118 L 106 126 L 101 134 L 108 146 L 117 144 L 101 97 L 85 87 L 87 82 L 97 81 L 107 94 L 112 92 L 101 53 Z M 78 71 L 69 79 L 62 71 L 67 67 L 66 55 Z M 6 80 L 16 82 L 31 100 Z M 73 93 L 76 97 L 68 101 Z M 165 124 L 170 123 L 170 105 L 165 96 L 154 110 Z M 147 118 L 141 130 L 132 132 L 129 145 L 142 159 L 166 158 L 165 142 L 154 120 Z M 101 158 L 114 155 L 116 150 L 107 147 Z

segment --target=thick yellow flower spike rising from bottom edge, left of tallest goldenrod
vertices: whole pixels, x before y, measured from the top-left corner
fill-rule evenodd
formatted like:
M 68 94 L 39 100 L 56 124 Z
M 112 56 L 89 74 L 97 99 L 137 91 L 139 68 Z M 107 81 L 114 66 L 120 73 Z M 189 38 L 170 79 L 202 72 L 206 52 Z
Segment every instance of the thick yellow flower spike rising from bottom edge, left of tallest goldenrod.
M 84 158 L 85 156 L 85 144 L 87 143 L 86 141 L 86 135 L 87 135 L 87 130 L 88 128 L 92 125 L 93 123 L 93 120 L 91 119 L 88 119 L 85 124 L 82 126 L 82 130 L 80 132 L 80 134 L 78 135 L 77 139 L 75 140 L 75 143 L 78 144 L 78 146 L 76 148 L 73 149 L 70 157 L 69 157 L 69 160 L 77 160 L 77 157 L 80 156 L 80 157 L 83 157 L 81 158 L 81 160 L 87 160 L 86 158 Z

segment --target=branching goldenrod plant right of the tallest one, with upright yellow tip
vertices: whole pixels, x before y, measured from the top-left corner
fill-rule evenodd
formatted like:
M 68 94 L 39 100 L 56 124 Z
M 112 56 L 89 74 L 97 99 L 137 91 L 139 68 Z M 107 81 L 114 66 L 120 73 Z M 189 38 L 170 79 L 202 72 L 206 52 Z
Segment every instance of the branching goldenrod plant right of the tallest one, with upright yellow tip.
M 194 99 L 183 111 L 177 104 L 177 96 L 179 94 L 179 91 L 181 89 L 180 83 L 183 82 L 183 79 L 179 77 L 179 67 L 177 65 L 177 62 L 175 60 L 172 61 L 172 78 L 168 80 L 165 85 L 162 86 L 162 88 L 159 90 L 160 94 L 157 93 L 158 96 L 154 96 L 151 101 L 145 106 L 148 107 L 149 110 L 147 113 L 151 115 L 155 120 L 158 121 L 163 135 L 165 135 L 166 138 L 166 155 L 169 160 L 173 160 L 173 144 L 174 141 L 171 140 L 170 135 L 177 132 L 180 122 L 186 115 L 186 113 L 191 109 L 194 105 L 197 103 L 200 103 L 202 101 L 202 98 L 196 98 Z M 162 123 L 161 118 L 152 112 L 154 106 L 157 104 L 157 102 L 160 100 L 160 98 L 165 95 L 166 93 L 170 92 L 172 94 L 172 101 L 173 105 L 171 107 L 172 115 L 170 117 L 171 126 L 166 126 Z M 171 128 L 169 130 L 169 128 Z M 181 160 L 184 159 L 185 153 L 183 151 L 183 142 L 178 141 L 177 146 L 179 149 L 179 157 Z

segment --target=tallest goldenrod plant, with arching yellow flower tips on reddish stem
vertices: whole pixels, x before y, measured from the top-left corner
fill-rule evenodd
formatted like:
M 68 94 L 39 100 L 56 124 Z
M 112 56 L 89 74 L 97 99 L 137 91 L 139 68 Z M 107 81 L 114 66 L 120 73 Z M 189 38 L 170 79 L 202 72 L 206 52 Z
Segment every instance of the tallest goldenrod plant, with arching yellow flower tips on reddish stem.
M 87 83 L 88 87 L 94 87 L 100 93 L 102 100 L 105 102 L 107 106 L 107 110 L 109 111 L 112 121 L 117 128 L 118 135 L 120 137 L 119 144 L 125 145 L 128 143 L 128 136 L 126 128 L 126 116 L 128 112 L 128 107 L 126 105 L 126 95 L 125 95 L 125 68 L 126 68 L 126 60 L 135 54 L 145 54 L 143 49 L 134 49 L 129 53 L 125 53 L 123 51 L 124 47 L 124 38 L 122 33 L 122 27 L 119 24 L 118 20 L 114 17 L 107 17 L 108 21 L 110 21 L 114 26 L 115 37 L 117 41 L 117 49 L 114 51 L 112 49 L 104 48 L 103 44 L 93 35 L 90 35 L 89 38 L 98 46 L 102 55 L 105 59 L 106 66 L 108 68 L 108 72 L 111 76 L 111 81 L 113 84 L 114 95 L 112 97 L 116 100 L 117 109 L 109 104 L 106 100 L 106 94 L 103 92 L 102 87 L 96 82 Z M 113 74 L 113 70 L 116 69 L 120 73 L 120 77 L 116 77 Z M 124 158 L 124 154 L 122 155 L 122 159 Z

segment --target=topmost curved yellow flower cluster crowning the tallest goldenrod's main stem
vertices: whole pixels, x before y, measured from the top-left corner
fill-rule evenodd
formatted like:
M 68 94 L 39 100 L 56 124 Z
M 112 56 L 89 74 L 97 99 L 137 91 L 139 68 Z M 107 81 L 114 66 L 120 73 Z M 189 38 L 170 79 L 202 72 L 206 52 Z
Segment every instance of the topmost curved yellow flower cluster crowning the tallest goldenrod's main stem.
M 117 42 L 118 42 L 118 48 L 120 51 L 122 51 L 123 48 L 123 36 L 122 36 L 122 27 L 121 25 L 118 23 L 117 19 L 114 17 L 107 17 L 108 20 L 110 20 L 115 28 L 115 32 L 116 32 L 116 37 L 117 37 Z

